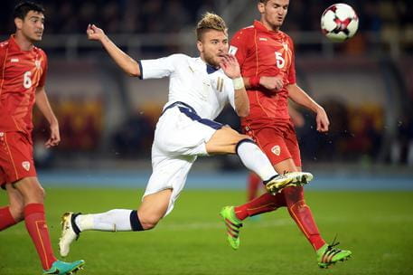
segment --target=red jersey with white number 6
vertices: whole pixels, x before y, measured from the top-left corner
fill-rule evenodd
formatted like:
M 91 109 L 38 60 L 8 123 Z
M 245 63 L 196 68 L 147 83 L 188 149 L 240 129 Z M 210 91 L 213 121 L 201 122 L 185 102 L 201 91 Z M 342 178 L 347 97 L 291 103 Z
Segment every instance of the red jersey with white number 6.
M 14 40 L 0 43 L 0 132 L 33 129 L 33 105 L 37 87 L 44 86 L 47 57 L 41 49 L 22 51 Z

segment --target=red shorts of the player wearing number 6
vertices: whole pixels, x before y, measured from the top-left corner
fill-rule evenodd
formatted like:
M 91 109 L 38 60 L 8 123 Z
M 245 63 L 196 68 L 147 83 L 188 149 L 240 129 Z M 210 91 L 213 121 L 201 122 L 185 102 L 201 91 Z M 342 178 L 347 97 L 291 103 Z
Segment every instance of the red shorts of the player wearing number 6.
M 0 186 L 37 176 L 32 141 L 20 132 L 0 132 Z

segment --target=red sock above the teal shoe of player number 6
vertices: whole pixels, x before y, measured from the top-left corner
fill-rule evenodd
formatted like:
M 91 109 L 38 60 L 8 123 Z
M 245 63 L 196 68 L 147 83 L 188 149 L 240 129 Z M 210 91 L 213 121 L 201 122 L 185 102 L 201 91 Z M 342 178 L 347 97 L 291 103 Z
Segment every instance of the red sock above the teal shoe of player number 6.
M 24 222 L 42 261 L 43 270 L 49 270 L 57 259 L 52 251 L 43 204 L 27 204 L 24 207 Z

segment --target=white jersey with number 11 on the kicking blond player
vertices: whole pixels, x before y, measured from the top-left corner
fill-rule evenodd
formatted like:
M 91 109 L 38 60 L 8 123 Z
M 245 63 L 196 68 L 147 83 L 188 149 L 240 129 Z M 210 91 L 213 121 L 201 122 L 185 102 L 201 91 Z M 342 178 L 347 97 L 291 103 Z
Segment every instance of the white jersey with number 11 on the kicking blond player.
M 215 70 L 200 57 L 185 54 L 140 61 L 141 78 L 160 79 L 169 77 L 168 102 L 164 108 L 181 101 L 204 119 L 215 119 L 225 105 L 235 109 L 234 86 L 222 69 Z

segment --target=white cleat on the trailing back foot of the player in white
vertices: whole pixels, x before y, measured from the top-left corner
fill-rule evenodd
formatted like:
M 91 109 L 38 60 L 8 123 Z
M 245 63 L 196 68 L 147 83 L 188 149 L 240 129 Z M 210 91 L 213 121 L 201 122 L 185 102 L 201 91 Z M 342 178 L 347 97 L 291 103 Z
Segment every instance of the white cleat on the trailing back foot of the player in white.
M 76 223 L 74 223 L 74 219 L 79 214 L 67 212 L 61 216 L 61 239 L 59 239 L 61 257 L 66 257 L 69 254 L 71 242 L 79 238 L 80 230 Z

